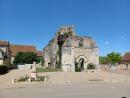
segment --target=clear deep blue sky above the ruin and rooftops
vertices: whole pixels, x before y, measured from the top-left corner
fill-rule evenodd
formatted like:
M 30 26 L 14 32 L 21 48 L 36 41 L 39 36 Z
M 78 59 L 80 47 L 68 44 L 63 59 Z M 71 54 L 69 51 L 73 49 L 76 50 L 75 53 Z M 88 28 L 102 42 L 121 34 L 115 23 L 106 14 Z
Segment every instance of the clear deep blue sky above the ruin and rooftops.
M 42 50 L 61 25 L 93 37 L 100 55 L 130 51 L 130 0 L 0 0 L 0 40 Z

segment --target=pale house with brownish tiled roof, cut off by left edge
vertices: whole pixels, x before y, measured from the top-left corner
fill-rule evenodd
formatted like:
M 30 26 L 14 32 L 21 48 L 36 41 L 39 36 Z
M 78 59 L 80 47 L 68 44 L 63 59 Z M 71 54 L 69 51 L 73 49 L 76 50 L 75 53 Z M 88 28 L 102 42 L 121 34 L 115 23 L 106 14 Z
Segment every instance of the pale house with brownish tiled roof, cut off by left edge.
M 0 65 L 10 63 L 10 48 L 8 41 L 0 41 Z

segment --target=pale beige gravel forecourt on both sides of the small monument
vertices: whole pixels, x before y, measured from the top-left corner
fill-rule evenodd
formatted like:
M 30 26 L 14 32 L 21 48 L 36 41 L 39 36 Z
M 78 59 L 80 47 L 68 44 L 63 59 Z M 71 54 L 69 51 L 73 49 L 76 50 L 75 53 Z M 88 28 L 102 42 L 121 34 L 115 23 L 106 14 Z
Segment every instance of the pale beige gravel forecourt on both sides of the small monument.
M 21 76 L 31 76 L 31 70 L 12 70 L 11 72 L 0 76 L 0 84 L 5 87 L 11 85 L 13 77 L 15 79 Z M 106 72 L 95 70 L 90 72 L 45 72 L 38 73 L 39 76 L 47 76 L 48 84 L 66 84 L 66 83 L 130 83 L 130 71 L 127 73 Z M 44 84 L 44 82 L 42 82 Z M 28 83 L 27 83 L 28 84 Z

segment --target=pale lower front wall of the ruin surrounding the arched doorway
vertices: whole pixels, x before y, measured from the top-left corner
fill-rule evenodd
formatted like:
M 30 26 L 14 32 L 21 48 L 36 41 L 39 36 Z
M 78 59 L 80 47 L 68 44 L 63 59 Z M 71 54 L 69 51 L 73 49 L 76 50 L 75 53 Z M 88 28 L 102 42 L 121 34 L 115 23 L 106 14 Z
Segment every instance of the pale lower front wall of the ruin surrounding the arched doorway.
M 85 60 L 84 65 L 85 69 L 87 69 L 87 65 L 89 63 L 98 65 L 99 59 L 97 52 L 98 52 L 97 48 L 87 49 L 87 48 L 64 47 L 62 55 L 62 66 L 64 66 L 63 70 L 75 71 L 75 62 L 78 62 L 80 58 L 83 58 Z

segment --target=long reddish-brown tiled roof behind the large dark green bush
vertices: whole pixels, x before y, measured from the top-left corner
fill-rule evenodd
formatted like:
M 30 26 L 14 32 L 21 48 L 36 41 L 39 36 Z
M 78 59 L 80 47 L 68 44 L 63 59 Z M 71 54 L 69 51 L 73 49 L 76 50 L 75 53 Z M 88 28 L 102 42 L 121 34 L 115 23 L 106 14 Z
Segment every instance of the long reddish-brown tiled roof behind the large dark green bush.
M 36 47 L 30 45 L 10 45 L 11 56 L 16 56 L 18 52 L 34 52 Z

